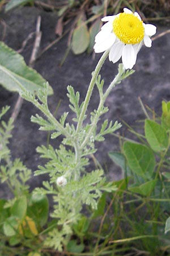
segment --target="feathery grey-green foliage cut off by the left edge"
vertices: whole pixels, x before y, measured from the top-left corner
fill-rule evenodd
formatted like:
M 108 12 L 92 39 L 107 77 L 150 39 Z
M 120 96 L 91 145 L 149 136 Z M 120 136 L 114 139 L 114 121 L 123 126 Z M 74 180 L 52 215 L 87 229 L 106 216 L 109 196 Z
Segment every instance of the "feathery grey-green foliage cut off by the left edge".
M 8 106 L 3 107 L 0 113 L 0 119 L 9 109 Z M 8 148 L 11 131 L 13 129 L 13 119 L 8 122 L 1 120 L 0 124 L 0 180 L 1 183 L 6 182 L 12 193 L 16 197 L 28 192 L 27 180 L 31 177 L 31 170 L 20 162 L 19 159 L 11 160 L 11 152 Z

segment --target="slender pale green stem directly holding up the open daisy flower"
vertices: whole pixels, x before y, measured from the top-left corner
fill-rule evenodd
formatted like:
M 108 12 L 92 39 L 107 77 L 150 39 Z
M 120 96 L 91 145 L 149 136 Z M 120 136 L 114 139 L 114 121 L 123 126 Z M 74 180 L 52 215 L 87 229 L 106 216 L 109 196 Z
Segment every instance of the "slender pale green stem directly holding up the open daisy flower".
M 90 98 L 91 98 L 92 90 L 94 89 L 94 86 L 95 86 L 96 78 L 99 75 L 100 69 L 103 66 L 104 61 L 107 59 L 108 55 L 109 55 L 109 51 L 105 51 L 103 53 L 103 55 L 101 56 L 99 62 L 96 65 L 95 71 L 92 75 L 90 85 L 89 85 L 88 90 L 87 90 L 86 98 L 84 100 L 82 112 L 80 113 L 80 117 L 79 117 L 78 124 L 77 124 L 77 127 L 76 127 L 76 134 L 79 133 L 79 130 L 82 127 L 82 123 L 83 123 L 83 120 L 84 120 L 84 115 L 86 114 L 86 110 L 87 110 L 88 103 L 89 103 Z

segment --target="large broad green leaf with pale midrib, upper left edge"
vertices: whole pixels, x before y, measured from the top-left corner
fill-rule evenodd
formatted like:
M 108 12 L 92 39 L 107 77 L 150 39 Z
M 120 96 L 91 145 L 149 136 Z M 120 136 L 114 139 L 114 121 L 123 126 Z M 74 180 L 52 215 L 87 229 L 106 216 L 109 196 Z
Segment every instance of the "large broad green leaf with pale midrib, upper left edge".
M 45 79 L 25 64 L 24 58 L 13 49 L 0 42 L 0 84 L 12 92 L 37 92 Z M 53 94 L 49 86 L 48 94 Z

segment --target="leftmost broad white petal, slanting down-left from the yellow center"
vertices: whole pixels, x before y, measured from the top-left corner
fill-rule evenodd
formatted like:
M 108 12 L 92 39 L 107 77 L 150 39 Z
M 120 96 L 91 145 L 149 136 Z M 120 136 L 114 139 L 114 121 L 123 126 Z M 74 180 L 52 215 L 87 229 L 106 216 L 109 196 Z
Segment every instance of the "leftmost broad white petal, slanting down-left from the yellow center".
M 97 42 L 94 46 L 94 50 L 96 53 L 104 52 L 107 49 L 111 48 L 113 46 L 114 41 L 116 39 L 116 35 L 113 33 L 108 34 L 106 38 L 103 39 L 103 41 Z

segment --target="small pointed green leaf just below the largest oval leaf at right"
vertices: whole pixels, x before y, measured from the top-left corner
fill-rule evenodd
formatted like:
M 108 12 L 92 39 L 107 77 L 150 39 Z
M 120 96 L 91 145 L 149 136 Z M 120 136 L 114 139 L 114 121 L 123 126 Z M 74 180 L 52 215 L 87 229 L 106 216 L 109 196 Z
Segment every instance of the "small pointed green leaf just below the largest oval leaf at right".
M 138 187 L 130 187 L 129 190 L 134 193 L 139 193 L 143 196 L 150 196 L 151 192 L 155 188 L 156 180 L 150 180 Z

